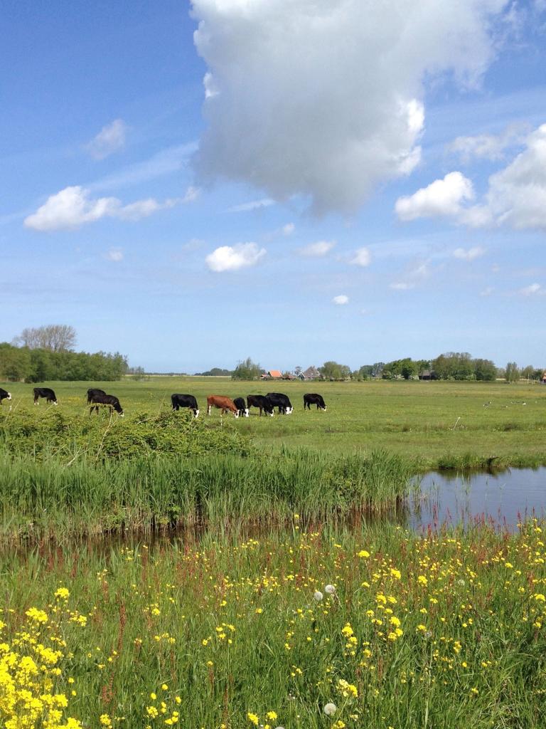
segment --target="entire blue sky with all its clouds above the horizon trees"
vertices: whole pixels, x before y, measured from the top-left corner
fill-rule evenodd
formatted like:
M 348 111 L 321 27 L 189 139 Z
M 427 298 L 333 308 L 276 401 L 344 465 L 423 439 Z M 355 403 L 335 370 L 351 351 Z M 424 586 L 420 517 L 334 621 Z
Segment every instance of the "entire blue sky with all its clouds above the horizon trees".
M 0 341 L 546 365 L 546 0 L 1 15 Z

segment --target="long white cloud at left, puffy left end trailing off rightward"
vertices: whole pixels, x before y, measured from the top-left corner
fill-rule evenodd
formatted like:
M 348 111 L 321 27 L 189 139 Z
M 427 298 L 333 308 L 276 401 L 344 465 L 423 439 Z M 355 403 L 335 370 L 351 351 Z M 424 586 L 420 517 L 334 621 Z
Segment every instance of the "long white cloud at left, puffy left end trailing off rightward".
M 118 198 L 93 199 L 90 190 L 74 185 L 50 195 L 44 205 L 25 218 L 25 227 L 33 230 L 70 230 L 104 217 L 135 221 L 192 199 L 193 192 L 189 196 L 186 193 L 184 198 L 170 198 L 163 202 L 148 198 L 122 205 Z

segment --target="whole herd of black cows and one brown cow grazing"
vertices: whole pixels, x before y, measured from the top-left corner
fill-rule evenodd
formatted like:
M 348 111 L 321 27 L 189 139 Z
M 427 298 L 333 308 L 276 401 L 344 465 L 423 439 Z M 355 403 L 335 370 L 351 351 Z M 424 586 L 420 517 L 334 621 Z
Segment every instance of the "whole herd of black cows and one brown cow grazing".
M 34 405 L 38 405 L 41 397 L 44 397 L 46 402 L 51 402 L 53 405 L 58 404 L 57 396 L 50 387 L 35 387 L 33 389 L 33 397 Z M 0 388 L 0 405 L 4 399 L 10 400 L 12 399 L 12 395 L 7 390 Z M 194 413 L 194 417 L 197 418 L 199 416 L 199 406 L 194 395 L 175 393 L 170 396 L 170 402 L 173 410 L 189 408 Z M 123 408 L 119 404 L 119 399 L 115 395 L 106 394 L 104 390 L 92 387 L 88 389 L 87 405 L 91 405 L 90 414 L 93 410 L 98 413 L 100 406 L 103 406 L 108 408 L 110 412 L 115 410 L 116 413 L 123 417 Z M 317 410 L 326 410 L 323 396 L 316 392 L 304 394 L 304 410 L 306 408 L 311 410 L 311 405 L 316 405 Z M 231 399 L 225 395 L 209 395 L 207 397 L 207 415 L 210 415 L 213 408 L 221 410 L 221 416 L 223 413 L 233 413 L 236 418 L 248 418 L 250 408 L 258 408 L 260 415 L 263 411 L 268 416 L 274 415 L 275 408 L 278 408 L 279 413 L 282 415 L 290 415 L 293 411 L 290 398 L 282 392 L 268 392 L 266 395 L 248 395 L 246 402 L 244 397 Z

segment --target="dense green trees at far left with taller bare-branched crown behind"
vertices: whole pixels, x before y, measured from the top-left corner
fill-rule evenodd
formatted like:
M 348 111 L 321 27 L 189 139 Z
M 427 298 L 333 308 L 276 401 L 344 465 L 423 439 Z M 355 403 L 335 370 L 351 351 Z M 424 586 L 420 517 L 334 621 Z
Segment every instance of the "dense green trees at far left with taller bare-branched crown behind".
M 66 324 L 25 329 L 10 344 L 0 343 L 0 380 L 119 380 L 127 358 L 119 352 L 76 352 L 76 331 Z

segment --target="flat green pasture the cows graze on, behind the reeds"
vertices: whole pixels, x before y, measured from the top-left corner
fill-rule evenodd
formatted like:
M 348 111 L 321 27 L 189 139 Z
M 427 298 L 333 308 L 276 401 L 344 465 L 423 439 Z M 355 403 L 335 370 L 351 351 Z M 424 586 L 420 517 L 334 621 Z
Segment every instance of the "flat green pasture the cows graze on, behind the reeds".
M 414 461 L 416 469 L 546 464 L 546 388 L 539 384 L 504 382 L 237 382 L 229 378 L 157 376 L 148 381 L 43 383 L 55 389 L 59 408 L 88 417 L 85 392 L 98 386 L 116 394 L 128 418 L 170 408 L 173 392 L 197 397 L 201 414 L 219 426 L 220 413 L 206 416 L 206 397 L 246 397 L 281 391 L 294 406 L 290 416 L 266 418 L 251 410 L 238 421 L 224 416 L 223 427 L 237 428 L 261 448 L 316 448 L 367 455 L 381 448 Z M 33 408 L 32 387 L 9 383 L 12 411 Z M 328 410 L 304 412 L 305 392 L 323 394 Z M 488 404 L 485 407 L 486 403 Z M 2 411 L 9 404 L 4 401 Z M 33 408 L 36 418 L 47 407 Z M 95 416 L 93 416 L 95 417 Z M 104 415 L 102 417 L 105 417 Z

